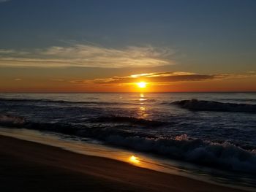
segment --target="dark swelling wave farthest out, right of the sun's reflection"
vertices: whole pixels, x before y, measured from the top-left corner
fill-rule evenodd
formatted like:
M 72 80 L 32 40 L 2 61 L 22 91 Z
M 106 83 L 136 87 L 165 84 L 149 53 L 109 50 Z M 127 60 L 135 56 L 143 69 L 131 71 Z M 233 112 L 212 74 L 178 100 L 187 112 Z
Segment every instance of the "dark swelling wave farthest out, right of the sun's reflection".
M 222 103 L 217 101 L 204 100 L 181 100 L 174 101 L 171 104 L 178 105 L 181 108 L 195 111 L 217 111 L 217 112 L 256 112 L 256 104 L 234 104 Z

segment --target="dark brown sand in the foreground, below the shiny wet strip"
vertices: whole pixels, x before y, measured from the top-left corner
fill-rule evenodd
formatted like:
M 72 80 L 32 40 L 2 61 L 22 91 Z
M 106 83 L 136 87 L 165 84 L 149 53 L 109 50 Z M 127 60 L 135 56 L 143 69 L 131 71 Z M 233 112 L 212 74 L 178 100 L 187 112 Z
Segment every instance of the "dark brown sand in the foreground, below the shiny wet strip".
M 239 191 L 0 136 L 0 191 Z

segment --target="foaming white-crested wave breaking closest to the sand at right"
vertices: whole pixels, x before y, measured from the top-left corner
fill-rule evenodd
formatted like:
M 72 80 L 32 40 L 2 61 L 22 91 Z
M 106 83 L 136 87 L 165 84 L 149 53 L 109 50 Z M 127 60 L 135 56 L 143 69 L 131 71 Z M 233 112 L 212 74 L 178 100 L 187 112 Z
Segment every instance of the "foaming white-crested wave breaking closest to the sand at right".
M 189 139 L 186 134 L 170 138 L 110 136 L 108 142 L 165 157 L 226 170 L 256 174 L 256 150 L 244 150 L 229 142 Z

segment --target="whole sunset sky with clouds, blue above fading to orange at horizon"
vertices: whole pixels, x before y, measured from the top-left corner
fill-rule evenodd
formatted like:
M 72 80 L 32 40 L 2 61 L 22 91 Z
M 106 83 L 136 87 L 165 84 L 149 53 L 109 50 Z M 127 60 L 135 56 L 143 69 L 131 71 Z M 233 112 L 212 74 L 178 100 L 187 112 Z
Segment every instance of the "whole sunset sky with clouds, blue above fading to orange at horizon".
M 255 10 L 254 0 L 0 0 L 0 92 L 256 91 Z

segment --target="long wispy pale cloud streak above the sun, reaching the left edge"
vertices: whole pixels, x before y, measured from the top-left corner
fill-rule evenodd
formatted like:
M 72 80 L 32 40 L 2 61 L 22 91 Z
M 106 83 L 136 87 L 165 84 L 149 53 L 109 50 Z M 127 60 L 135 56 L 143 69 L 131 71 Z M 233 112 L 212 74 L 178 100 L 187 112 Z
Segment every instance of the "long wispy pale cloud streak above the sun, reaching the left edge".
M 154 67 L 174 64 L 169 48 L 124 47 L 113 49 L 95 45 L 48 47 L 33 51 L 0 50 L 0 66 L 33 67 Z

